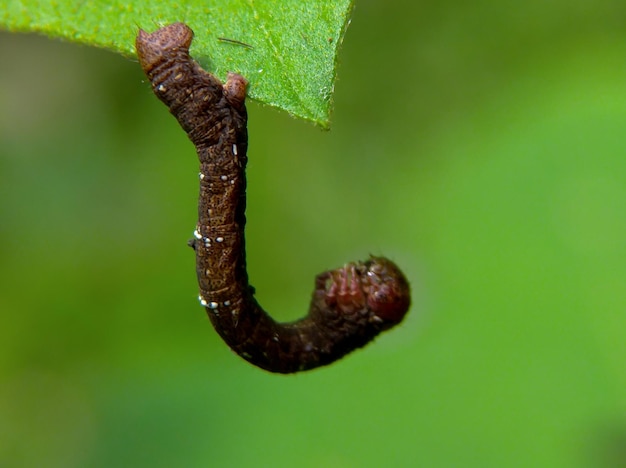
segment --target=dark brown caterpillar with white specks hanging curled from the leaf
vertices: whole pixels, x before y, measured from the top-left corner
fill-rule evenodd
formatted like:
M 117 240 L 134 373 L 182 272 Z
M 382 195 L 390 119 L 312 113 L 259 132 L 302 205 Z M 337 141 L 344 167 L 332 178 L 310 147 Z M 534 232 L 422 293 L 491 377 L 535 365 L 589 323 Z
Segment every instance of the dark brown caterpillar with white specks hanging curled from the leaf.
M 193 32 L 183 23 L 152 34 L 136 48 L 152 90 L 178 119 L 200 159 L 196 253 L 200 303 L 224 341 L 271 372 L 330 364 L 400 323 L 410 306 L 409 284 L 390 260 L 371 257 L 316 277 L 306 317 L 275 322 L 248 283 L 244 227 L 248 133 L 247 81 L 225 84 L 189 56 Z

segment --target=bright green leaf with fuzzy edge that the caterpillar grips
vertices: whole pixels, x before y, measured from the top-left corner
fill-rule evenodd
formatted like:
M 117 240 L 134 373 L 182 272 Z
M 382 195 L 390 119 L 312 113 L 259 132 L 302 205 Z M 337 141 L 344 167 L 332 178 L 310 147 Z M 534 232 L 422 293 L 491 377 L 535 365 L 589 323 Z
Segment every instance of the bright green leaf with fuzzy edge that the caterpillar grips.
M 135 55 L 139 28 L 183 21 L 194 58 L 221 79 L 250 82 L 248 95 L 327 128 L 339 46 L 352 0 L 4 0 L 0 27 Z M 226 40 L 224 40 L 226 39 Z M 228 41 L 230 40 L 230 41 Z

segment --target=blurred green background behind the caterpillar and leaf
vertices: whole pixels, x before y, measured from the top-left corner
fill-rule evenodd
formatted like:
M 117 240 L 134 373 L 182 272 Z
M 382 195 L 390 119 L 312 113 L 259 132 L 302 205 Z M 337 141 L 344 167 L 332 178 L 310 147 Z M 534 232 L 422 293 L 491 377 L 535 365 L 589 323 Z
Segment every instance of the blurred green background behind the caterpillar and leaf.
M 138 64 L 0 35 L 0 466 L 623 466 L 626 3 L 359 1 L 331 132 L 249 104 L 259 300 L 368 254 L 406 322 L 328 368 L 197 302 L 191 144 Z

